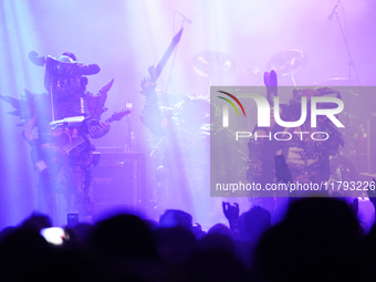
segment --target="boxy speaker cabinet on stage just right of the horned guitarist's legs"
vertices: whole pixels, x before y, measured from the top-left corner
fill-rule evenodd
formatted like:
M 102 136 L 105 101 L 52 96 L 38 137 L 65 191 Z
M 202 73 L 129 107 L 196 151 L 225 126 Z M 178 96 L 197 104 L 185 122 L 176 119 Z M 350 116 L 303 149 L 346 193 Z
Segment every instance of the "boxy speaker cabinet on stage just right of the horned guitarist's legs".
M 95 212 L 118 207 L 140 208 L 146 199 L 145 155 L 101 154 L 100 163 L 92 169 L 92 185 Z

